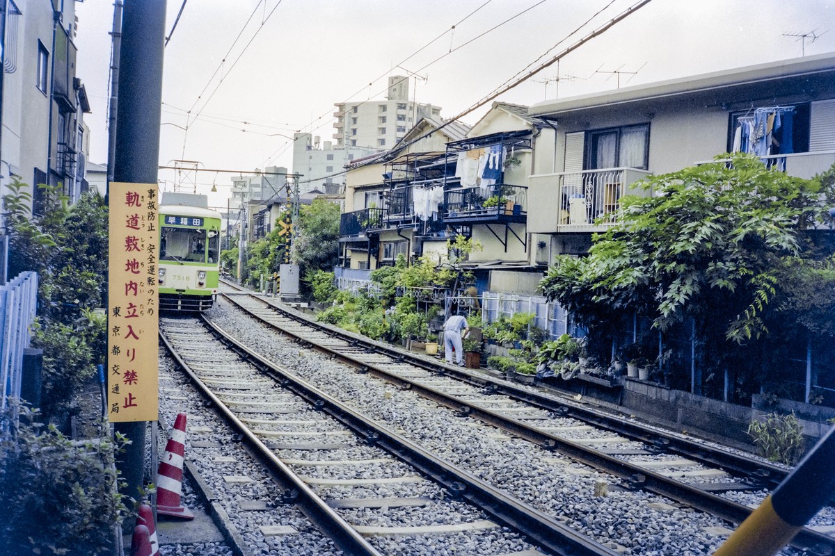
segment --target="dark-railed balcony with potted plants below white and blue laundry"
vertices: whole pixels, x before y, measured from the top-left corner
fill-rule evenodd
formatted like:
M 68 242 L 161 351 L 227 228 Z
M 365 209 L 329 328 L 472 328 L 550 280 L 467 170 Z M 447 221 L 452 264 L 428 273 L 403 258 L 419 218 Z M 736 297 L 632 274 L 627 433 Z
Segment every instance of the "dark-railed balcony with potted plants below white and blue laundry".
M 489 188 L 463 188 L 443 194 L 444 223 L 525 223 L 528 188 L 496 184 Z

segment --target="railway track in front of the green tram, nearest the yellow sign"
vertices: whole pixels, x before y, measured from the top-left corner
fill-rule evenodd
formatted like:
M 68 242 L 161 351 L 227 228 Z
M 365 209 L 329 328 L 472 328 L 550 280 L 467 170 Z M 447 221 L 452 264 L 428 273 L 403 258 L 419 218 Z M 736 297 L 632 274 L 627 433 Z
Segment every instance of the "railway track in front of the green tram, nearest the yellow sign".
M 167 318 L 160 333 L 180 368 L 234 428 L 233 438 L 245 438 L 276 477 L 276 486 L 262 487 L 277 489 L 269 498 L 301 514 L 276 516 L 292 524 L 261 526 L 265 536 L 317 530 L 352 554 L 460 547 L 485 554 L 519 548 L 540 553 L 538 547 L 545 553 L 615 554 L 364 418 L 220 331 L 193 318 Z M 215 462 L 234 463 L 225 456 Z M 226 483 L 251 488 L 249 475 L 231 473 L 223 475 Z M 248 500 L 244 508 L 257 503 Z

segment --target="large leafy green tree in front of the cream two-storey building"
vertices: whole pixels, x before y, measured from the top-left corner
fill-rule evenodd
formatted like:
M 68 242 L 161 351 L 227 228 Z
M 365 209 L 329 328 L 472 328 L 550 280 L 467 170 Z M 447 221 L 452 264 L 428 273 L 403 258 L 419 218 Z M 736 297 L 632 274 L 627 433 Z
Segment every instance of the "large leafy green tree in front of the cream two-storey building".
M 653 194 L 622 199 L 588 257 L 557 259 L 544 293 L 600 335 L 625 313 L 660 331 L 692 320 L 707 360 L 745 365 L 758 339 L 773 345 L 769 323 L 802 323 L 802 312 L 780 311 L 805 303 L 792 293 L 797 273 L 814 288 L 835 285 L 811 263 L 821 253 L 812 230 L 831 222 L 833 181 L 792 178 L 750 155 L 649 178 Z

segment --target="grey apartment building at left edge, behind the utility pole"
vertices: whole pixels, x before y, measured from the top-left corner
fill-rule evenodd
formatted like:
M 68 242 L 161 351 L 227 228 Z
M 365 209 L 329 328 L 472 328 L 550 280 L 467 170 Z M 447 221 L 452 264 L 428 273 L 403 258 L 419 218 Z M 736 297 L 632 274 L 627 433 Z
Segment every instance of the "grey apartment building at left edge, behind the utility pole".
M 29 185 L 37 213 L 33 185 L 60 184 L 70 202 L 85 188 L 83 113 L 90 106 L 75 73 L 75 2 L 4 4 L 0 195 L 18 176 Z

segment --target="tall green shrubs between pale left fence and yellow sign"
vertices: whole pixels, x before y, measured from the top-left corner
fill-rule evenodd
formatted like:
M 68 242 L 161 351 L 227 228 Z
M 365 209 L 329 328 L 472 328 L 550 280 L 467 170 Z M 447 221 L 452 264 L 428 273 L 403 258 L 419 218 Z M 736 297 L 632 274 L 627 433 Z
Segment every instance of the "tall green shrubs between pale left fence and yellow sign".
M 9 223 L 9 276 L 38 272 L 38 328 L 43 348 L 41 417 L 66 427 L 74 397 L 104 363 L 108 270 L 108 212 L 104 198 L 86 194 L 72 206 L 59 188 L 41 188 L 42 213 L 29 210 L 27 186 L 15 180 L 3 198 Z

